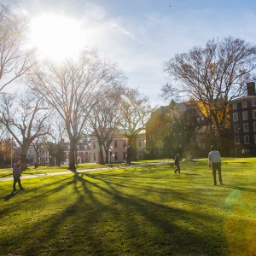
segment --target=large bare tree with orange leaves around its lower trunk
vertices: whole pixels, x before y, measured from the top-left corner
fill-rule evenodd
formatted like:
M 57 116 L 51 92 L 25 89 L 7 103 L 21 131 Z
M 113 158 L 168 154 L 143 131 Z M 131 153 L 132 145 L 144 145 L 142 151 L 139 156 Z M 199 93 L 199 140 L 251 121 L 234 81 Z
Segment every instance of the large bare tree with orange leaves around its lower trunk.
M 255 46 L 239 38 L 213 38 L 204 48 L 194 47 L 164 63 L 171 83 L 162 88 L 163 96 L 191 97 L 197 101 L 202 114 L 207 110 L 211 137 L 213 123 L 221 136 L 228 105 L 244 94 L 245 82 L 251 78 L 255 65 Z

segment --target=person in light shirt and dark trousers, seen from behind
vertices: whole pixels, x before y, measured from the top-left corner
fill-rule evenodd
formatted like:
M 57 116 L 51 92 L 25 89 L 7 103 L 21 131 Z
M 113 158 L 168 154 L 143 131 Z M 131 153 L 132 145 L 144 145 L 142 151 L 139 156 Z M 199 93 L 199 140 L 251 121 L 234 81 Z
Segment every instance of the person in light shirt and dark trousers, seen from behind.
M 221 177 L 221 158 L 218 150 L 215 149 L 215 146 L 211 146 L 211 152 L 208 154 L 208 165 L 211 169 L 212 167 L 212 176 L 213 176 L 213 182 L 214 185 L 217 185 L 216 181 L 216 171 L 218 171 L 218 180 L 220 184 L 222 183 L 222 177 Z

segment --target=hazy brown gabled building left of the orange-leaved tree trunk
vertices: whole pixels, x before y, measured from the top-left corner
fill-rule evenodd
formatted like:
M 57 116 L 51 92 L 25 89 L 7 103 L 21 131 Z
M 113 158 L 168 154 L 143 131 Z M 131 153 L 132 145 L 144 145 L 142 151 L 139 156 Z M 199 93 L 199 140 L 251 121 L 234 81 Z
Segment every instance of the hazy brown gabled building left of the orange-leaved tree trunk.
M 195 102 L 170 102 L 151 114 L 146 125 L 149 158 L 172 158 L 182 154 L 203 154 L 207 133 L 201 127 L 207 119 L 199 113 Z M 187 157 L 187 155 L 183 156 Z

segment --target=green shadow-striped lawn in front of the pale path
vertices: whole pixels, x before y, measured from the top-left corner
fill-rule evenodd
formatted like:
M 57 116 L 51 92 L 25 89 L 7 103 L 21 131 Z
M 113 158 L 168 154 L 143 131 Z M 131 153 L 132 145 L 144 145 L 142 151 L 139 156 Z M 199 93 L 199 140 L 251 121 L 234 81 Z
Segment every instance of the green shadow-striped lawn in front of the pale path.
M 255 159 L 0 183 L 0 255 L 256 255 Z

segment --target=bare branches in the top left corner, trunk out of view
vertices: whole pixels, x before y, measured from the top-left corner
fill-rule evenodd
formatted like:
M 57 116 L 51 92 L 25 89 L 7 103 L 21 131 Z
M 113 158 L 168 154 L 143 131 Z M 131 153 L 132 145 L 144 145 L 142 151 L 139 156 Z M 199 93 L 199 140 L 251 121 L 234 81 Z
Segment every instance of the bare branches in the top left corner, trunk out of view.
M 33 50 L 24 47 L 26 23 L 0 3 L 0 92 L 34 64 Z

